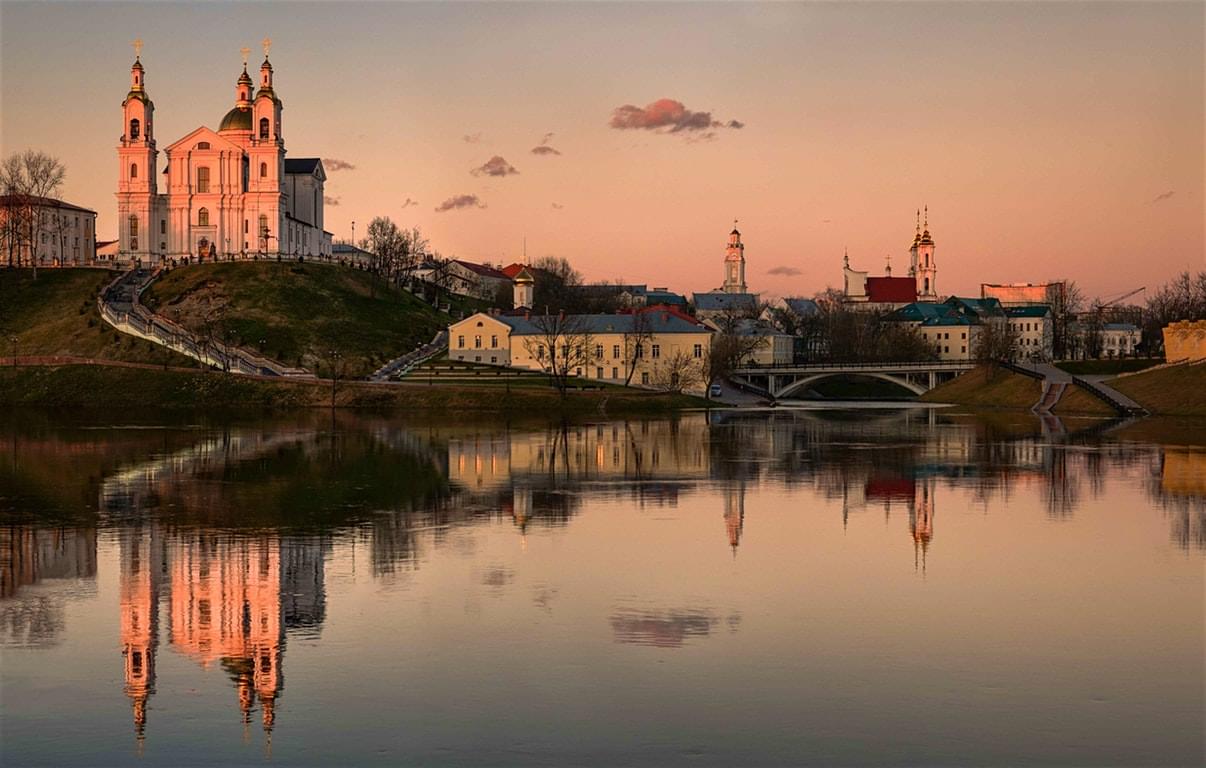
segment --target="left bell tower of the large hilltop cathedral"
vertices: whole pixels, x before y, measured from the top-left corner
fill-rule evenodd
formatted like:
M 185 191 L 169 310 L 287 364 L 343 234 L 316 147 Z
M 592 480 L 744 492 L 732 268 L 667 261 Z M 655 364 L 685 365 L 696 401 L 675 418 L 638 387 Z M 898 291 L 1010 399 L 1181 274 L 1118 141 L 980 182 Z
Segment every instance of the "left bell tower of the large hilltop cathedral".
M 154 104 L 146 92 L 141 40 L 134 41 L 134 52 L 130 92 L 122 101 L 122 140 L 117 147 L 118 250 L 128 259 L 148 263 L 151 254 L 157 252 L 153 219 L 159 153 L 154 147 Z

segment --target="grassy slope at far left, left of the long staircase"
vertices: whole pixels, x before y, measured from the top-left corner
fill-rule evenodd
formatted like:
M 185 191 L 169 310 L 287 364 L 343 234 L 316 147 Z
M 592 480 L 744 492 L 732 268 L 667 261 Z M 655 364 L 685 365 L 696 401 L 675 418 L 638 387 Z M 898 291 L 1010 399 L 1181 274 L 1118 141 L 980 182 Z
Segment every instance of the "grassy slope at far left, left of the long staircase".
M 75 354 L 109 360 L 192 365 L 150 341 L 113 330 L 100 319 L 96 295 L 117 272 L 100 269 L 0 270 L 0 354 Z

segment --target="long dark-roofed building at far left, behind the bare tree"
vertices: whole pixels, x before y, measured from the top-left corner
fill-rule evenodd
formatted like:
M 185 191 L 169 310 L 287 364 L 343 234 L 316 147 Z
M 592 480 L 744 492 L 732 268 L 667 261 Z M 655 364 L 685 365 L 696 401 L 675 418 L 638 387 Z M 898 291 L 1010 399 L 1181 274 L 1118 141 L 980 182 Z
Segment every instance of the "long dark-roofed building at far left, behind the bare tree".
M 96 259 L 96 211 L 53 198 L 0 195 L 2 263 L 87 266 Z

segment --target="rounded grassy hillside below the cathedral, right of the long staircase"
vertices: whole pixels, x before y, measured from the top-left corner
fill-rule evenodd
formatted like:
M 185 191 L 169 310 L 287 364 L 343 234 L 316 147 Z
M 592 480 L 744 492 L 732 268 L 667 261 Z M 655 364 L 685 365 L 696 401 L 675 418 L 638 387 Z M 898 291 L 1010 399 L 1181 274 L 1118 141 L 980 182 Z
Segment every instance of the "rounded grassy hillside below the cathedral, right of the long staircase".
M 323 368 L 338 350 L 350 376 L 429 341 L 449 317 L 362 271 L 329 264 L 241 262 L 176 269 L 144 294 L 147 306 L 198 327 L 209 305 L 224 305 L 236 339 L 270 357 Z

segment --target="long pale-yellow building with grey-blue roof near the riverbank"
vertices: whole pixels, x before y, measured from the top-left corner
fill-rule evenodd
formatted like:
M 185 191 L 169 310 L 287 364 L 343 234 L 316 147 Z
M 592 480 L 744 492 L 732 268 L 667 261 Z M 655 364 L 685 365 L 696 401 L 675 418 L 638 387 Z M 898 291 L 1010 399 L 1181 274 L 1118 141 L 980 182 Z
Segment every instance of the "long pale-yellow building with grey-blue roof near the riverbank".
M 557 327 L 566 332 L 550 330 Z M 632 383 L 662 387 L 669 385 L 671 376 L 690 373 L 701 381 L 690 388 L 702 389 L 712 334 L 712 328 L 693 317 L 662 307 L 557 317 L 478 312 L 449 326 L 449 358 L 545 371 L 550 354 L 568 354 L 570 344 L 585 345 L 589 360 L 580 360 L 580 365 L 575 360 L 574 376 L 624 383 L 632 370 Z M 552 346 L 561 350 L 550 350 Z

